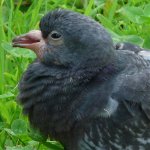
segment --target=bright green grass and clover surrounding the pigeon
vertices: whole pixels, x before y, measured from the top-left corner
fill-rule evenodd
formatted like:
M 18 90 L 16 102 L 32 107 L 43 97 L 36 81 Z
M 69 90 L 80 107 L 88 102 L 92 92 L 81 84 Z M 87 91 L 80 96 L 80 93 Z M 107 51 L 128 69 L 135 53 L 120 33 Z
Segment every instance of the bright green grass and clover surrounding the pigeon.
M 16 35 L 38 29 L 49 10 L 67 8 L 100 22 L 114 42 L 150 48 L 149 0 L 1 0 L 0 1 L 0 150 L 61 150 L 30 128 L 16 103 L 17 84 L 35 55 L 11 47 Z

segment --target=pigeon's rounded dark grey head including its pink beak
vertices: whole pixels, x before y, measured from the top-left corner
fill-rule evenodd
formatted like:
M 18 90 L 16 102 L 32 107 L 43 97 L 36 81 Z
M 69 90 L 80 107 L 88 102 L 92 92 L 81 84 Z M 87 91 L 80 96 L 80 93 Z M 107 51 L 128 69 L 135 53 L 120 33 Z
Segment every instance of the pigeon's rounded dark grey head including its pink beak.
M 96 21 L 69 10 L 55 10 L 40 21 L 40 30 L 13 39 L 14 47 L 33 50 L 47 65 L 105 66 L 114 57 L 112 39 Z

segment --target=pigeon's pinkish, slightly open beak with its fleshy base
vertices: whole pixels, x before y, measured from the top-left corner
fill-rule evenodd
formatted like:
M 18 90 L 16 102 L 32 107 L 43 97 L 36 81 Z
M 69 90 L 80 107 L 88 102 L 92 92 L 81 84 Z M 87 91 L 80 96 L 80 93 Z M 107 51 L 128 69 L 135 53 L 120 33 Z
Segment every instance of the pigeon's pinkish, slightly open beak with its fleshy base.
M 43 57 L 45 41 L 40 30 L 32 30 L 29 33 L 15 37 L 12 40 L 13 47 L 27 48 L 35 52 L 39 59 Z

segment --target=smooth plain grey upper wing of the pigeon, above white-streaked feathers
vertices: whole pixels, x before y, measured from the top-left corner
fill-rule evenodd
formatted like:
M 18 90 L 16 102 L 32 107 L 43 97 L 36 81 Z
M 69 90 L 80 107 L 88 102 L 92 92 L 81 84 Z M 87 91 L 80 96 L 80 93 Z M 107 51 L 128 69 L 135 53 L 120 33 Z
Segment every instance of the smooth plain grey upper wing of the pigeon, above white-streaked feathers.
M 121 74 L 116 79 L 112 97 L 123 101 L 128 110 L 138 105 L 150 119 L 150 67 L 132 74 Z

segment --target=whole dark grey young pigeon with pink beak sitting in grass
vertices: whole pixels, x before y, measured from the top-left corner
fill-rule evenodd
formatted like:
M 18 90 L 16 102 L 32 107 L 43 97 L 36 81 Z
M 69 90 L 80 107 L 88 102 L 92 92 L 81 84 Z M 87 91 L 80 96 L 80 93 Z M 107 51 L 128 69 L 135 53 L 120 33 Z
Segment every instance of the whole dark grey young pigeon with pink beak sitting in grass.
M 99 23 L 55 10 L 13 46 L 37 55 L 18 98 L 42 134 L 65 150 L 150 149 L 150 62 L 115 50 Z

